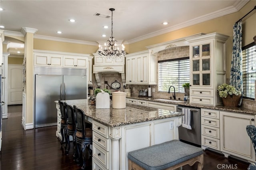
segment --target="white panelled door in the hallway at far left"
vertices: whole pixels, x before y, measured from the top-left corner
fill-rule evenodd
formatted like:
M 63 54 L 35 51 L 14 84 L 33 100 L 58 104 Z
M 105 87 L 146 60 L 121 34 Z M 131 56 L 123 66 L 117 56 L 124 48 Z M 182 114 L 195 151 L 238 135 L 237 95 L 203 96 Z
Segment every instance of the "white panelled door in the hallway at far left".
M 22 104 L 23 65 L 8 64 L 8 105 Z

